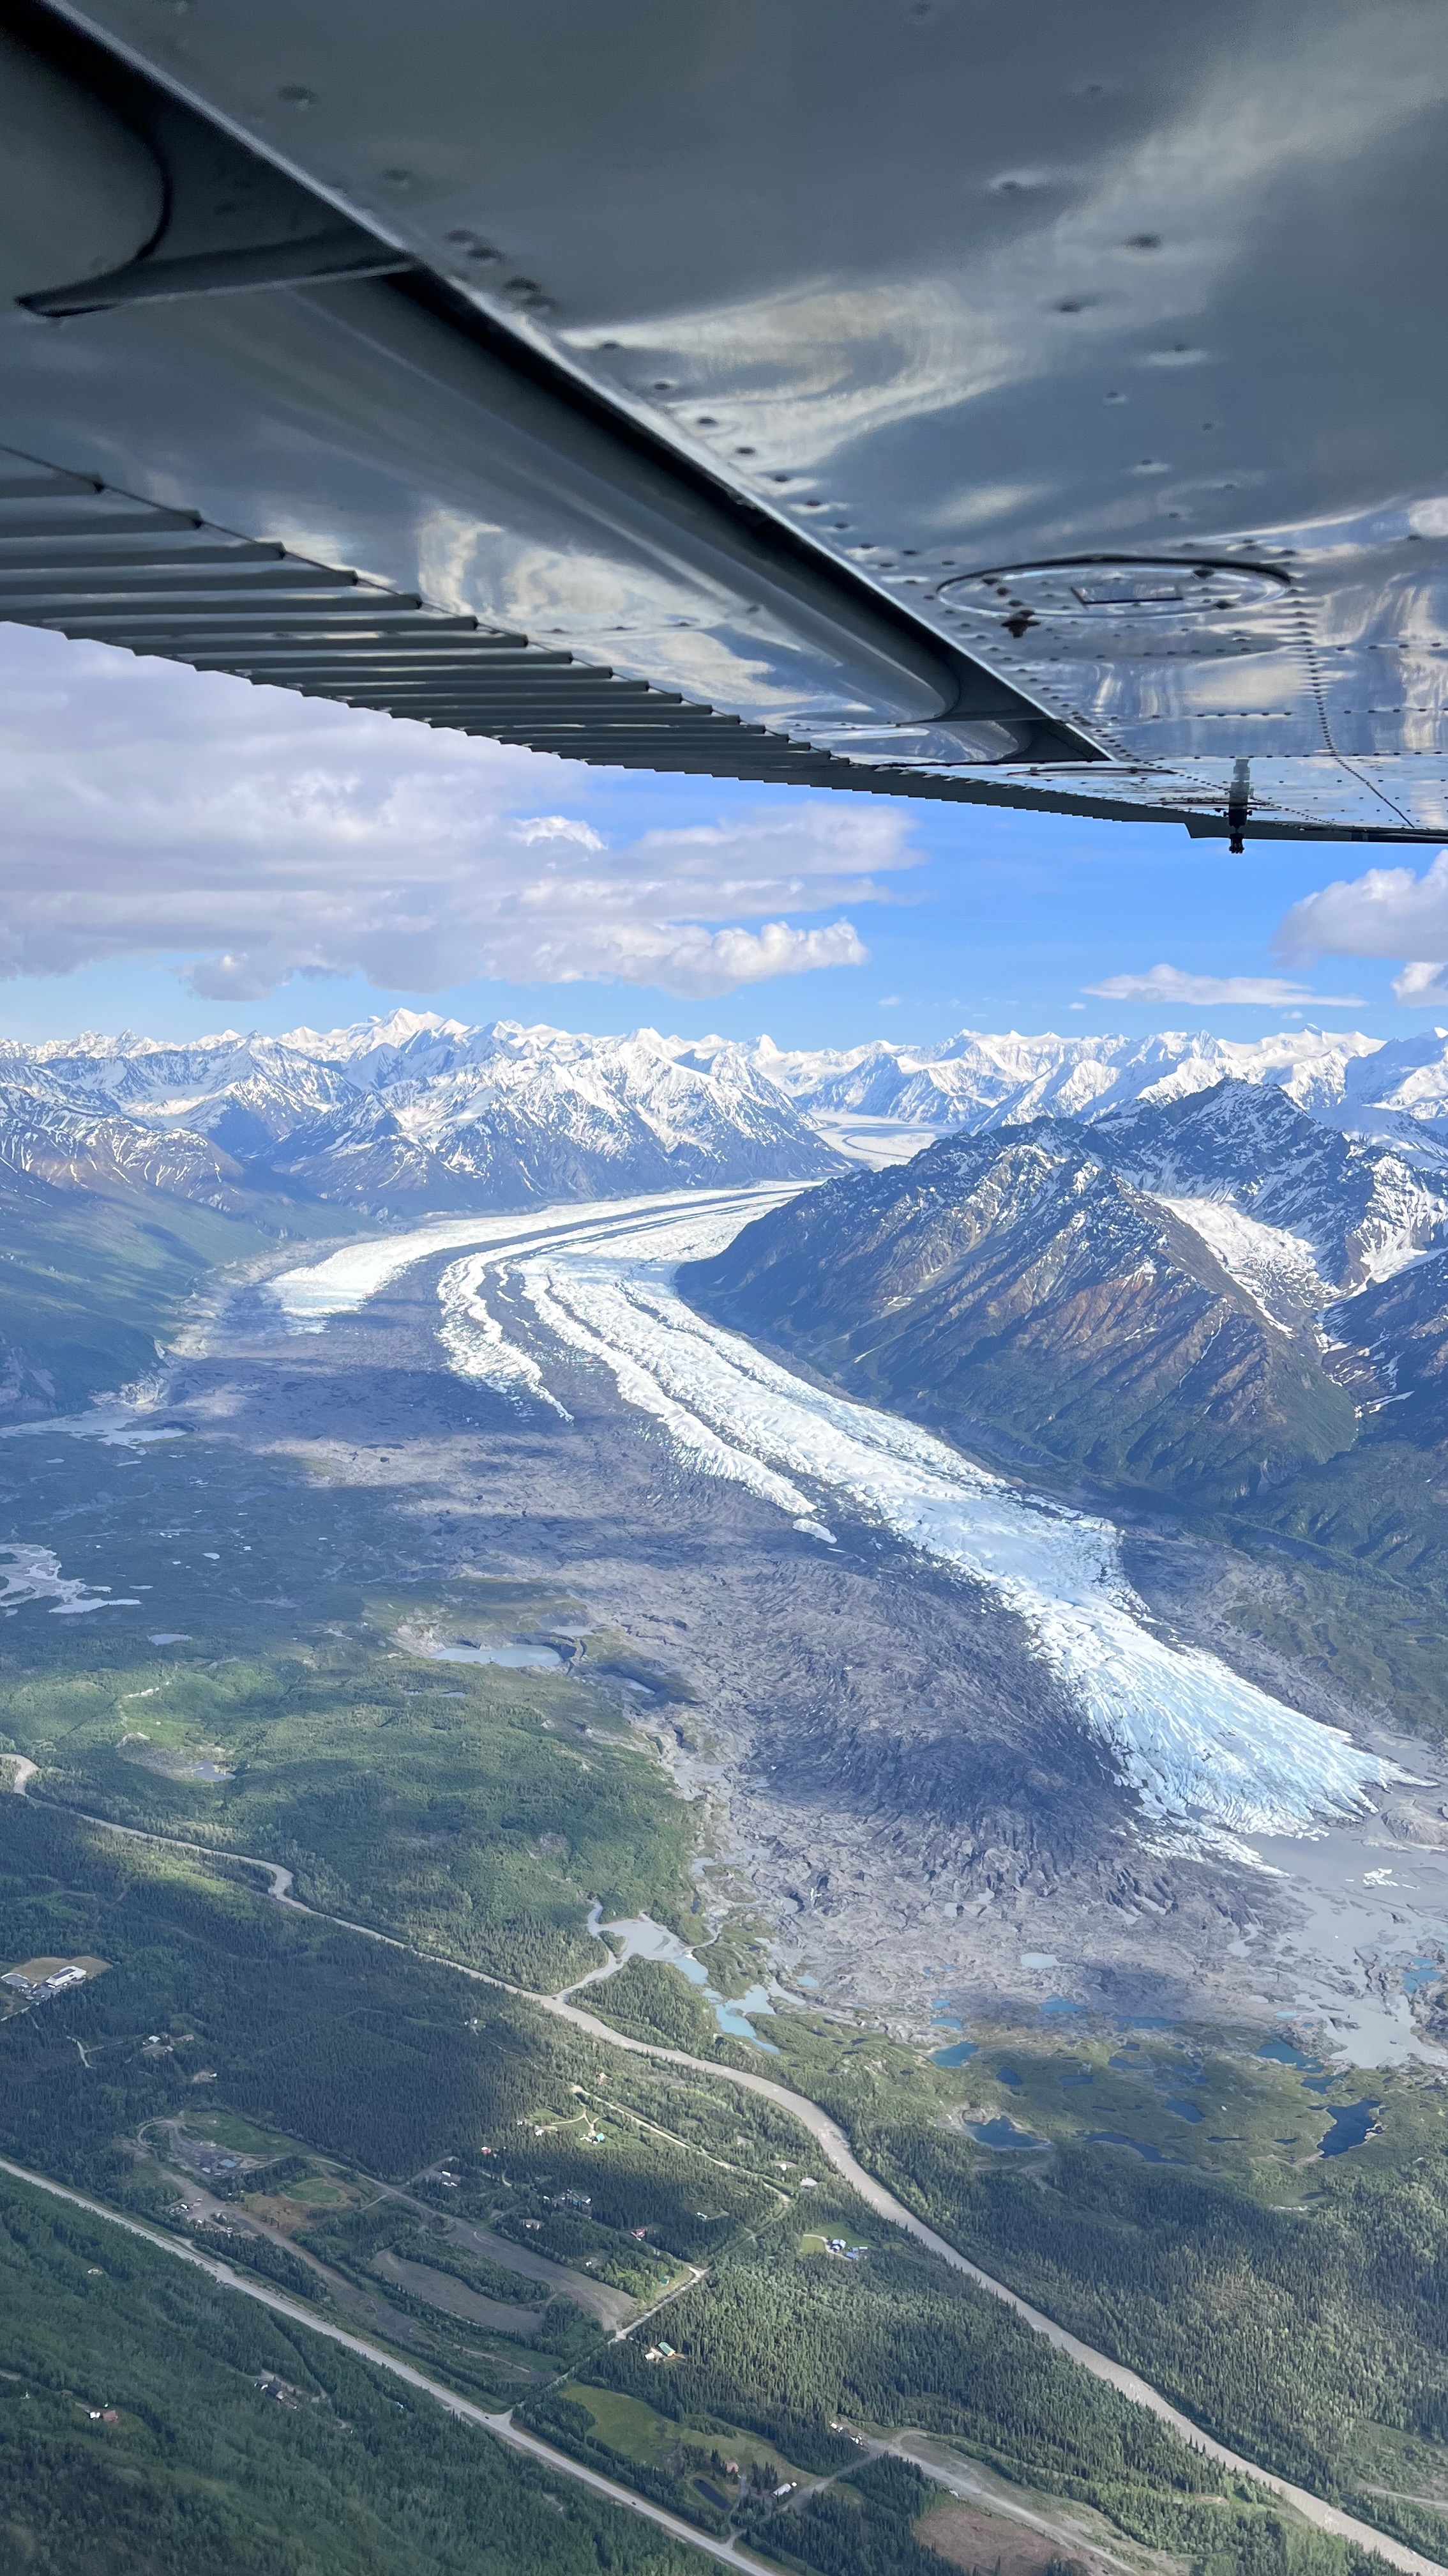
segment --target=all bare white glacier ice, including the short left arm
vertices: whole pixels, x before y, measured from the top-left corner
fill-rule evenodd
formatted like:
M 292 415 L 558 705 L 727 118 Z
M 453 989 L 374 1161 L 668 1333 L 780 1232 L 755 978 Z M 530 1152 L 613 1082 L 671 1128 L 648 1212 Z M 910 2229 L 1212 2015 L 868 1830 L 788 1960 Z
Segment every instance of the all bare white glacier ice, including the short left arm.
M 1134 1793 L 1154 1850 L 1265 1868 L 1250 1837 L 1322 1834 L 1371 1816 L 1371 1793 L 1407 1772 L 1162 1636 L 1108 1520 L 1033 1497 L 917 1425 L 796 1378 L 685 1306 L 678 1265 L 721 1252 L 786 1195 L 778 1185 L 680 1190 L 587 1213 L 572 1203 L 435 1224 L 348 1244 L 273 1278 L 271 1293 L 291 1329 L 319 1332 L 417 1260 L 469 1247 L 438 1278 L 453 1370 L 564 1414 L 549 1350 L 575 1352 L 605 1368 L 621 1401 L 657 1422 L 691 1468 L 745 1486 L 801 1533 L 830 1540 L 830 1517 L 848 1515 L 989 1589 L 1023 1620 Z

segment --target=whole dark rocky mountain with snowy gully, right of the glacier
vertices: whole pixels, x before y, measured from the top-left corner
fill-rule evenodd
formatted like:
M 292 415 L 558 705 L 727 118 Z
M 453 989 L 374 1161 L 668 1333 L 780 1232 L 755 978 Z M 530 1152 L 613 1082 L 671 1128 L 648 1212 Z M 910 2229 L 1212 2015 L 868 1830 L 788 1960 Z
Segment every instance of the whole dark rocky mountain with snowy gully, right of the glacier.
M 1448 1280 L 1422 1311 L 1402 1280 L 1440 1267 L 1448 1185 L 1224 1082 L 946 1136 L 804 1193 L 680 1283 L 966 1445 L 1229 1502 L 1353 1448 L 1409 1314 L 1433 1373 Z

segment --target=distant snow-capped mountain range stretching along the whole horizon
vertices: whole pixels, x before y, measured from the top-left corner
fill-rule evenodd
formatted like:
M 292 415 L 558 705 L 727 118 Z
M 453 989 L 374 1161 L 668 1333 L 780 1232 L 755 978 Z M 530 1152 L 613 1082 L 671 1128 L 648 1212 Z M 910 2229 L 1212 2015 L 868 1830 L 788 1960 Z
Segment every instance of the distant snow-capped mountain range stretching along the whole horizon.
M 77 1188 L 121 1172 L 211 1206 L 263 1182 L 394 1218 L 691 1182 L 822 1180 L 845 1162 L 907 1159 L 943 1133 L 1041 1115 L 1123 1121 L 1221 1082 L 1234 1095 L 1283 1097 L 1322 1146 L 1306 1162 L 1293 1157 L 1293 1180 L 1273 1185 L 1270 1206 L 1260 1190 L 1250 1206 L 1239 1185 L 1252 1177 L 1242 1170 L 1252 1146 L 1244 1131 L 1224 1131 L 1221 1172 L 1183 1175 L 1180 1198 L 1234 1198 L 1244 1224 L 1332 1247 L 1350 1208 L 1299 1224 L 1299 1200 L 1327 1188 L 1332 1133 L 1371 1139 L 1394 1149 L 1402 1177 L 1373 1182 L 1381 1242 L 1376 1255 L 1363 1249 L 1358 1275 L 1386 1275 L 1399 1249 L 1422 1247 L 1417 1200 L 1427 1193 L 1438 1203 L 1438 1175 L 1448 1175 L 1445 1030 L 1378 1041 L 1304 1028 L 1255 1043 L 961 1030 L 925 1048 L 876 1041 L 791 1054 L 770 1038 L 685 1041 L 649 1028 L 593 1038 L 402 1010 L 283 1038 L 82 1036 L 0 1043 L 0 1162 Z M 1353 1198 L 1366 1164 L 1353 1170 L 1355 1182 L 1348 1157 L 1332 1190 L 1342 1182 Z M 1342 1278 L 1335 1252 L 1322 1278 Z

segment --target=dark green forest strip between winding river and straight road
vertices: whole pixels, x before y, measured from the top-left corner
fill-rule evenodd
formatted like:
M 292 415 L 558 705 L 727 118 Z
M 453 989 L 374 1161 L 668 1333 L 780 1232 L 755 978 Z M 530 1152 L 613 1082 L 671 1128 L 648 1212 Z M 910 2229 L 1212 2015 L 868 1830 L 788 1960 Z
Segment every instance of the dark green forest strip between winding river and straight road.
M 549 2329 L 551 2367 L 572 2370 L 575 2385 L 647 2401 L 693 2427 L 729 2424 L 812 2478 L 850 2465 L 830 2429 L 840 2416 L 925 2427 L 1005 2476 L 1100 2506 L 1147 2545 L 1211 2555 L 1221 2571 L 1288 2566 L 1299 2543 L 1281 2517 L 1224 2496 L 1208 2463 L 1152 2416 L 1062 2362 L 830 2182 L 812 2195 L 801 2239 L 804 2138 L 770 2105 L 621 2061 L 497 1989 L 289 1917 L 183 1855 L 119 1844 L 57 1811 L 15 1803 L 5 1862 L 8 1955 L 85 1950 L 111 1963 L 5 2030 L 0 2138 L 18 2161 L 111 2202 L 165 2210 L 175 2184 L 137 2156 L 137 2138 L 165 2120 L 206 2125 L 222 2105 L 276 2133 L 278 2154 L 258 2174 L 273 2197 L 307 2190 L 296 2177 L 309 2154 L 394 2182 L 448 2156 L 453 2187 L 428 2184 L 423 2200 L 438 2223 L 459 2215 L 557 2262 L 603 2264 L 593 2277 L 608 2277 L 616 2254 L 642 2267 L 667 2269 L 680 2257 L 706 2267 L 670 2300 L 667 2367 L 644 2360 L 644 2336 L 616 2344 L 582 2316 L 562 2347 Z M 381 2063 L 386 2084 L 376 2081 Z M 196 2076 L 214 2076 L 204 2105 Z M 399 2202 L 389 2223 L 376 2210 L 348 2218 L 317 2205 L 281 2264 L 309 2246 L 343 2280 L 368 2282 L 381 2241 L 430 2262 L 420 2226 Z M 631 2233 L 639 2226 L 644 2241 Z M 868 2257 L 845 2267 L 806 2251 L 832 2226 L 868 2241 Z M 446 2246 L 441 2257 L 464 2285 L 472 2269 L 484 2298 L 508 2287 Z M 389 2287 L 386 2298 L 405 2321 L 425 2313 L 405 2293 Z M 526 2293 L 515 2306 L 536 2313 Z M 541 2313 L 546 2321 L 554 2306 Z M 430 2329 L 430 2367 L 448 2370 L 451 2352 L 459 2385 L 508 2385 L 495 2339 L 492 2357 L 466 2360 L 464 2329 L 435 2313 Z M 520 2372 L 510 2393 L 575 2450 L 567 2406 L 577 2401 L 549 2398 L 536 2375 L 541 2349 L 528 2339 L 513 2349 Z M 590 2434 L 587 2455 L 603 2452 L 613 2473 L 701 2527 L 719 2512 L 691 2478 Z M 1278 2555 L 1265 2561 L 1262 2514 L 1278 2535 Z M 1332 2553 L 1324 2561 L 1335 2576 L 1342 2566 Z

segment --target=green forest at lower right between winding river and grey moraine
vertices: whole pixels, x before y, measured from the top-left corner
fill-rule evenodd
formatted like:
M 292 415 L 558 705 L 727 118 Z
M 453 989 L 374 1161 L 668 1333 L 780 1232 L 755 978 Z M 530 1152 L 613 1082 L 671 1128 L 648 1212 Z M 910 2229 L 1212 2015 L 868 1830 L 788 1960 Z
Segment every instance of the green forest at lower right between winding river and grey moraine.
M 1371 2143 L 1324 2159 L 1332 2105 L 1366 2079 L 1314 2069 L 1286 2043 L 1162 2032 L 1041 2045 L 1010 2032 L 943 2071 L 801 2017 L 781 2022 L 781 2040 L 791 2081 L 843 2120 L 871 2172 L 987 2272 L 1141 2370 L 1221 2442 L 1427 2555 L 1445 2550 L 1438 2079 L 1376 2074 Z M 1005 2112 L 1049 2151 L 979 2148 L 948 2112 L 966 2089 L 979 2115 Z M 1440 2506 L 1422 2501 L 1438 2494 Z

